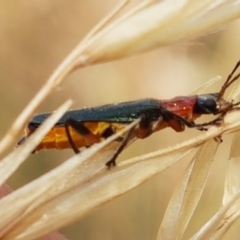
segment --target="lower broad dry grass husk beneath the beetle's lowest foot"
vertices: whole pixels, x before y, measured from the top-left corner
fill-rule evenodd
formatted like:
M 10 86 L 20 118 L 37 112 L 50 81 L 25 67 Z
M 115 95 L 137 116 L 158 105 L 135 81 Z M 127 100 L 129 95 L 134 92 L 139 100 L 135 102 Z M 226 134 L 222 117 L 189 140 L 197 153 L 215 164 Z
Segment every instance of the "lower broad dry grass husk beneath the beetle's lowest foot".
M 187 152 L 166 158 L 177 161 Z M 22 226 L 17 226 L 3 239 L 11 239 L 15 236 L 18 236 L 18 239 L 32 239 L 36 233 L 43 235 L 83 217 L 95 207 L 131 190 L 163 169 L 159 160 L 155 162 L 153 164 L 153 161 L 145 161 L 125 169 L 116 168 L 101 172 L 99 176 L 76 185 L 69 191 L 63 192 L 58 198 L 42 204 L 23 219 Z M 159 164 L 160 167 L 157 168 L 156 165 Z M 25 232 L 20 233 L 23 229 Z

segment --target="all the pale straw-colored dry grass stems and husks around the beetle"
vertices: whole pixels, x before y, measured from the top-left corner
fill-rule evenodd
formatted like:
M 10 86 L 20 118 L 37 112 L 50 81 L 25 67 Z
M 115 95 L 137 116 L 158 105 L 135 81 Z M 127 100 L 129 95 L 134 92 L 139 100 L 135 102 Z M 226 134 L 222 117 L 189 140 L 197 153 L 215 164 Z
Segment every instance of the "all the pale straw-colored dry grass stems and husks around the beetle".
M 95 27 L 54 71 L 1 141 L 2 152 L 16 142 L 27 119 L 74 70 L 204 35 L 240 16 L 240 1 L 237 0 L 142 1 L 136 8 L 122 13 L 127 2 L 121 3 Z M 235 91 L 231 96 L 237 95 Z M 69 104 L 57 111 L 26 144 L 3 159 L 1 183 L 18 168 Z M 136 124 L 130 124 L 124 132 Z M 182 239 L 219 145 L 213 138 L 226 132 L 238 132 L 239 128 L 240 112 L 236 110 L 227 114 L 220 127 L 212 127 L 179 145 L 123 161 L 109 171 L 104 164 L 118 148 L 120 143 L 112 141 L 124 134 L 121 132 L 3 198 L 0 201 L 1 239 L 35 239 L 66 226 L 195 151 L 169 202 L 157 237 Z M 192 239 L 220 239 L 239 216 L 237 139 L 229 159 L 223 206 Z

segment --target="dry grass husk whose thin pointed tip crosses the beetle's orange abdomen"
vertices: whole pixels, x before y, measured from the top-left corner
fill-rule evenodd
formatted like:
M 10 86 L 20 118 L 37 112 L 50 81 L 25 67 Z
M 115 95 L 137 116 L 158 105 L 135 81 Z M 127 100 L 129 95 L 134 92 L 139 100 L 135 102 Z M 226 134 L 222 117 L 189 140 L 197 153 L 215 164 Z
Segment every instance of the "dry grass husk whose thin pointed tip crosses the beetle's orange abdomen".
M 30 216 L 38 213 L 40 214 L 40 217 L 42 217 L 47 214 L 47 212 L 41 211 L 41 207 L 44 208 L 45 204 L 48 205 L 51 204 L 51 202 L 56 204 L 55 201 L 57 201 L 58 207 L 60 208 L 62 204 L 60 196 L 62 194 L 68 193 L 76 186 L 80 187 L 84 185 L 86 182 L 90 181 L 91 178 L 94 178 L 97 173 L 106 172 L 104 163 L 106 163 L 106 161 L 109 160 L 116 151 L 116 144 L 120 145 L 121 143 L 117 142 L 114 146 L 109 146 L 109 144 L 111 144 L 114 139 L 118 138 L 120 134 L 128 131 L 136 124 L 137 121 L 130 124 L 126 129 L 124 129 L 124 131 L 121 131 L 113 137 L 108 138 L 106 141 L 87 149 L 82 154 L 72 157 L 69 161 L 63 163 L 51 172 L 43 175 L 2 199 L 0 201 L 0 233 L 2 239 L 12 239 L 12 235 L 16 237 L 27 229 L 30 231 L 29 224 L 34 223 L 30 220 Z M 105 150 L 100 151 L 103 148 Z M 9 209 L 8 206 L 14 207 Z M 48 211 L 52 209 L 53 208 L 51 206 Z M 44 219 L 45 222 L 47 220 L 49 221 L 46 217 L 44 217 Z M 59 221 L 59 218 L 54 219 L 57 220 L 57 222 Z M 53 219 L 50 220 L 52 221 Z M 66 220 L 67 219 L 63 220 L 63 222 Z M 50 226 L 49 222 L 47 222 L 45 227 L 48 229 Z M 34 231 L 36 233 L 39 229 L 34 228 Z M 42 234 L 34 235 L 34 237 L 30 238 L 24 237 L 24 239 L 32 239 L 41 236 L 44 234 L 44 229 L 41 228 L 40 232 Z

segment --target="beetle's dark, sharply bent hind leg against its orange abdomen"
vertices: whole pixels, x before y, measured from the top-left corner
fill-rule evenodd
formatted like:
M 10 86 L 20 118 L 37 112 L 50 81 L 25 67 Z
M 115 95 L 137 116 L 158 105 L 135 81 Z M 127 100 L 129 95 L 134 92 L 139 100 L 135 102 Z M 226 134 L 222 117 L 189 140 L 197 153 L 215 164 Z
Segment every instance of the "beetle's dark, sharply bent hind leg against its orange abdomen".
M 93 143 L 99 142 L 99 138 L 94 135 L 87 127 L 84 126 L 84 124 L 80 121 L 77 121 L 75 119 L 69 118 L 65 123 L 65 129 L 66 134 L 68 137 L 68 141 L 73 149 L 73 151 L 77 154 L 79 153 L 79 149 L 77 148 L 71 133 L 69 127 L 72 127 L 74 130 L 76 130 L 81 136 L 85 137 L 86 139 L 91 140 Z

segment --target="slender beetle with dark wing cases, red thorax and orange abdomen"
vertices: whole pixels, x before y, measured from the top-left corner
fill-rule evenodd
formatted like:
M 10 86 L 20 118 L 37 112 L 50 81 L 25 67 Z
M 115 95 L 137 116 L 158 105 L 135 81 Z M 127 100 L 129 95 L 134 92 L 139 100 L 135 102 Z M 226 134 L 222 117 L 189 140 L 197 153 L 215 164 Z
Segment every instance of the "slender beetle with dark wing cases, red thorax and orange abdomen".
M 138 126 L 130 131 L 127 137 L 120 139 L 122 146 L 106 163 L 111 167 L 116 164 L 116 157 L 130 139 L 143 139 L 166 127 L 171 127 L 177 132 L 184 131 L 185 126 L 207 130 L 206 126 L 220 124 L 223 116 L 239 104 L 233 104 L 223 98 L 226 89 L 239 78 L 240 73 L 234 76 L 239 66 L 240 61 L 218 93 L 179 96 L 168 100 L 148 98 L 68 111 L 42 139 L 34 152 L 50 148 L 72 148 L 75 153 L 79 153 L 79 148 L 90 147 L 140 119 Z M 21 145 L 50 114 L 34 116 L 17 145 Z M 213 121 L 196 124 L 195 119 L 203 114 L 220 116 Z

